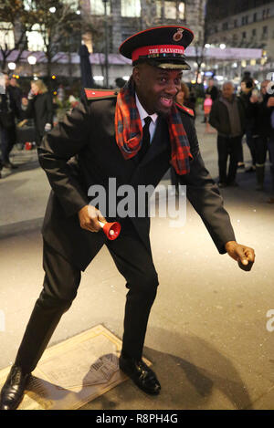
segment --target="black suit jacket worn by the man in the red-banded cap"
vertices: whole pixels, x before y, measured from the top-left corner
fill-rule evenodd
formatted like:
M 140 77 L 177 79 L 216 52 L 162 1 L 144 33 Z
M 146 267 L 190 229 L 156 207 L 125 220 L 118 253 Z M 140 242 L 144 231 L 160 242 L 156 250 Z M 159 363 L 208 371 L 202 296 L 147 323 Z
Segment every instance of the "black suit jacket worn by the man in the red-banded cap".
M 116 99 L 94 100 L 80 104 L 65 120 L 47 133 L 38 148 L 39 162 L 47 172 L 53 192 L 47 204 L 43 235 L 49 245 L 84 270 L 106 241 L 102 233 L 90 233 L 79 226 L 78 212 L 90 198 L 92 184 L 107 189 L 109 178 L 121 184 L 154 187 L 170 167 L 170 141 L 165 120 L 158 124 L 150 150 L 142 162 L 138 156 L 125 161 L 115 141 L 114 113 Z M 188 174 L 180 176 L 187 185 L 187 197 L 201 215 L 220 253 L 227 241 L 235 240 L 223 199 L 216 183 L 205 169 L 196 138 L 194 120 L 181 112 L 194 160 Z M 76 160 L 71 162 L 71 158 Z M 111 217 L 107 217 L 112 220 Z M 117 218 L 117 217 L 115 217 Z M 150 249 L 148 217 L 131 218 L 142 242 Z M 119 238 L 118 238 L 119 239 Z

